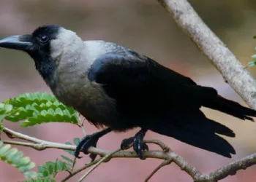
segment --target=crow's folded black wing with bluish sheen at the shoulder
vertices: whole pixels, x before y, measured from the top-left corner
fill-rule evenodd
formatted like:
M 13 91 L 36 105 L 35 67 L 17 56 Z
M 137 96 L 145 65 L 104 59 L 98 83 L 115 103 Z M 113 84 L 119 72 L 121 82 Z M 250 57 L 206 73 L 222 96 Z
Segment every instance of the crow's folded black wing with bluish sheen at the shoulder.
M 89 79 L 102 84 L 121 112 L 142 114 L 200 108 L 204 99 L 217 97 L 213 88 L 201 87 L 192 79 L 132 51 L 127 55 L 102 55 L 91 66 Z

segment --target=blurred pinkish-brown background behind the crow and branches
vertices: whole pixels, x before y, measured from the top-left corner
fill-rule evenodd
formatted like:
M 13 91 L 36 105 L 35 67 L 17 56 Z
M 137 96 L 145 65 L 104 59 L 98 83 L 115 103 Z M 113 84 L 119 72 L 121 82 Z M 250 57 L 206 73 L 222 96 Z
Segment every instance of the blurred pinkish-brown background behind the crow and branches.
M 256 41 L 252 39 L 252 36 L 256 34 L 256 1 L 191 0 L 190 3 L 214 33 L 246 65 L 250 56 L 255 53 Z M 156 0 L 1 0 L 0 37 L 31 33 L 34 28 L 46 23 L 59 24 L 72 29 L 84 40 L 103 39 L 122 44 L 154 58 L 181 74 L 191 76 L 198 84 L 215 87 L 220 95 L 246 106 Z M 256 67 L 249 68 L 249 71 L 256 76 Z M 24 92 L 37 91 L 50 92 L 34 69 L 34 62 L 29 55 L 0 49 L 0 101 Z M 255 123 L 241 122 L 232 116 L 220 114 L 218 111 L 209 111 L 206 108 L 203 108 L 203 111 L 209 118 L 226 124 L 236 132 L 236 138 L 227 138 L 237 151 L 232 159 L 226 159 L 153 132 L 148 132 L 146 138 L 157 138 L 163 141 L 202 173 L 217 170 L 229 162 L 256 151 Z M 49 123 L 25 129 L 20 128 L 19 123 L 5 122 L 5 125 L 15 131 L 59 143 L 83 137 L 80 128 L 72 124 Z M 97 131 L 87 122 L 85 127 L 89 134 Z M 98 147 L 109 150 L 117 149 L 124 138 L 134 135 L 137 131 L 105 135 L 100 139 Z M 7 139 L 7 137 L 3 134 L 2 139 Z M 158 149 L 156 146 L 149 147 Z M 25 156 L 31 157 L 37 165 L 42 165 L 49 160 L 54 161 L 60 154 L 66 154 L 55 149 L 35 151 L 20 146 L 18 149 L 24 151 Z M 86 162 L 89 162 L 89 157 L 78 160 L 78 166 Z M 145 161 L 112 159 L 100 165 L 86 179 L 91 182 L 143 181 L 160 162 L 157 159 Z M 236 175 L 229 176 L 222 182 L 256 181 L 255 172 L 256 167 L 240 170 Z M 65 175 L 67 173 L 57 175 L 56 181 L 60 181 Z M 69 181 L 78 181 L 81 175 L 83 173 Z M 0 181 L 23 181 L 23 175 L 14 167 L 0 162 Z M 172 164 L 159 170 L 151 178 L 151 182 L 154 181 L 187 182 L 192 180 L 187 173 Z

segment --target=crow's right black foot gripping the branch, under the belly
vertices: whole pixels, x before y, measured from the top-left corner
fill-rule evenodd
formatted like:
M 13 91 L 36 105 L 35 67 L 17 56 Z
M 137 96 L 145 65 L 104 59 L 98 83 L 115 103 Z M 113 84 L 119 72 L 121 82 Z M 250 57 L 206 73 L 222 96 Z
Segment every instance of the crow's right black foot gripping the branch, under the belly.
M 134 137 L 124 139 L 121 142 L 121 149 L 127 149 L 133 144 L 133 150 L 138 154 L 140 159 L 146 159 L 143 155 L 143 151 L 148 151 L 148 145 L 143 142 L 143 138 L 147 130 L 140 130 Z

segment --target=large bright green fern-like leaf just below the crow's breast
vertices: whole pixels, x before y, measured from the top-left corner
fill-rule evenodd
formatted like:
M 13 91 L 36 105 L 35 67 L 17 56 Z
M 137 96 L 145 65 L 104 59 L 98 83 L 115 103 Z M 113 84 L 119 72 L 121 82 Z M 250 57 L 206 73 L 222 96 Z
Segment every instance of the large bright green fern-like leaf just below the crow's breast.
M 9 111 L 5 119 L 11 122 L 25 120 L 21 122 L 21 127 L 31 127 L 47 122 L 78 124 L 78 112 L 72 107 L 65 106 L 54 95 L 48 93 L 25 93 L 7 100 L 4 104 L 12 106 L 12 111 Z

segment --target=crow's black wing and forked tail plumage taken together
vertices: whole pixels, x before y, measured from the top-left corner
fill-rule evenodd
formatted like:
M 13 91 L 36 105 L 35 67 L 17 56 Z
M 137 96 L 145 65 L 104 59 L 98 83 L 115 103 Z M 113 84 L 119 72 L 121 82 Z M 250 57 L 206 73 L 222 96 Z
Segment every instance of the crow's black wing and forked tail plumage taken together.
M 239 119 L 256 116 L 256 111 L 220 97 L 214 88 L 197 85 L 187 76 L 130 50 L 102 55 L 91 66 L 89 79 L 102 84 L 116 100 L 121 123 L 111 127 L 146 127 L 225 157 L 236 151 L 217 134 L 235 137 L 235 133 L 206 118 L 200 107 Z

